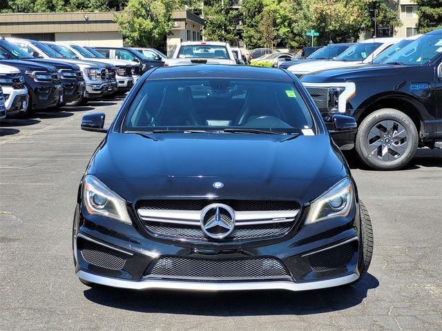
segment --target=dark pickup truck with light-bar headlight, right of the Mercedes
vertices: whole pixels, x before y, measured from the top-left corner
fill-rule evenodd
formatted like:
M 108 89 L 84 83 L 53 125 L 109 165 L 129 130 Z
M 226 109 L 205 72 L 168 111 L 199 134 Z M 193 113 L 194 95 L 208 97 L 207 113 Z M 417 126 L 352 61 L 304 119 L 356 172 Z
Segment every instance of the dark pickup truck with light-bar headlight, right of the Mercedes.
M 342 150 L 377 170 L 406 165 L 416 148 L 442 148 L 442 30 L 424 34 L 385 62 L 308 74 L 302 84 L 332 128 L 347 114 L 358 131 L 341 137 Z

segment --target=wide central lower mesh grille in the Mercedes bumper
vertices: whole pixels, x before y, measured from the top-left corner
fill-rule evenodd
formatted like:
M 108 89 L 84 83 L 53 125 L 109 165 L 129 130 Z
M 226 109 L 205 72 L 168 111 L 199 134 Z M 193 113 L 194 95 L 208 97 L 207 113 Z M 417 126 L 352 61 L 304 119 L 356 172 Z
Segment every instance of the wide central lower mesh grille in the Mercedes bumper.
M 274 279 L 289 274 L 277 259 L 220 260 L 164 257 L 154 262 L 147 272 L 149 277 L 174 279 Z

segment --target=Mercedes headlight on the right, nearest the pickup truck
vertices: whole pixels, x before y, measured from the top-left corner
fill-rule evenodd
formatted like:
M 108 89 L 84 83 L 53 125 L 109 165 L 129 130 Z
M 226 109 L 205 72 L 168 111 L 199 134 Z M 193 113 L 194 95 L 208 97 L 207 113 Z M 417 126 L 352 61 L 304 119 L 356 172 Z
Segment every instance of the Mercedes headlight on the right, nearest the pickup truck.
M 347 217 L 354 203 L 353 183 L 349 178 L 338 181 L 310 205 L 305 224 L 312 224 L 334 217 Z

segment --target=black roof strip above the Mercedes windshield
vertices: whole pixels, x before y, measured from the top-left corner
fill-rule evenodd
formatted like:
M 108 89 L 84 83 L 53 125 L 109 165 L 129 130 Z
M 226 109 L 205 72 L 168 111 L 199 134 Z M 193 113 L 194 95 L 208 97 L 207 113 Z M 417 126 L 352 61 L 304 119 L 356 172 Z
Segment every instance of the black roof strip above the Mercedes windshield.
M 291 82 L 292 79 L 284 70 L 260 68 L 253 66 L 193 65 L 156 68 L 148 79 L 181 79 L 181 78 L 235 78 L 266 79 Z

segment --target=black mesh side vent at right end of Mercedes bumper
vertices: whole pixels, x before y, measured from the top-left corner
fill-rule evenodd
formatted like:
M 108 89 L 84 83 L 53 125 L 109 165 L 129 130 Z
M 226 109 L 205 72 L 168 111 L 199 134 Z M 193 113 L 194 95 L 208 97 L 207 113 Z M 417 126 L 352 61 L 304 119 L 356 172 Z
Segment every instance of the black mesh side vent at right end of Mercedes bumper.
M 358 250 L 357 241 L 346 243 L 323 252 L 309 255 L 311 269 L 316 272 L 323 272 L 337 268 L 344 268 L 352 261 Z

